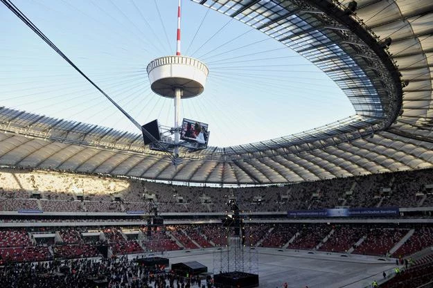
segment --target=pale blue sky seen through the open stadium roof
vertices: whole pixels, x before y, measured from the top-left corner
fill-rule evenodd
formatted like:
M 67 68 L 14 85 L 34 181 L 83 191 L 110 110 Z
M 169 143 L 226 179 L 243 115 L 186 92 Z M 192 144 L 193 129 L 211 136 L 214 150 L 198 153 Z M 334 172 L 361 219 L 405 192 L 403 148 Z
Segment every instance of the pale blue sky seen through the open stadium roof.
M 173 100 L 146 66 L 175 55 L 177 0 L 13 0 L 86 75 L 142 125 L 173 127 Z M 0 106 L 139 133 L 99 91 L 0 4 Z M 355 114 L 337 85 L 251 27 L 182 1 L 182 55 L 209 67 L 181 118 L 209 124 L 209 145 L 265 141 Z

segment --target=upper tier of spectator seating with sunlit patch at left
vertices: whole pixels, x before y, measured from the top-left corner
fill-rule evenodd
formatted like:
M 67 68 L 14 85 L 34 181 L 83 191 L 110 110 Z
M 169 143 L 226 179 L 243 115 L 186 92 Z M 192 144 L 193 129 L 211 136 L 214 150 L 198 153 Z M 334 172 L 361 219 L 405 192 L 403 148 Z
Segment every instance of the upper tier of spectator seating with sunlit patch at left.
M 237 199 L 242 210 L 274 212 L 346 207 L 433 205 L 431 170 L 373 174 L 288 186 L 211 188 L 173 186 L 61 172 L 0 170 L 0 210 L 65 212 L 221 212 Z M 17 179 L 19 181 L 17 181 Z M 36 198 L 36 199 L 33 199 Z

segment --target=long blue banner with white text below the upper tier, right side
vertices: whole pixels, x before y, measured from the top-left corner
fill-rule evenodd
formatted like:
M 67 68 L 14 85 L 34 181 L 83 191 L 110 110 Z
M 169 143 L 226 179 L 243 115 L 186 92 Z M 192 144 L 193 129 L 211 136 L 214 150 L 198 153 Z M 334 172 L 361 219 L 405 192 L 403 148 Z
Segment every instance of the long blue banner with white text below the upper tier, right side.
M 288 217 L 364 217 L 398 216 L 398 207 L 384 208 L 330 208 L 321 210 L 289 210 Z

